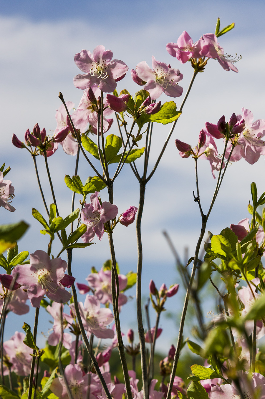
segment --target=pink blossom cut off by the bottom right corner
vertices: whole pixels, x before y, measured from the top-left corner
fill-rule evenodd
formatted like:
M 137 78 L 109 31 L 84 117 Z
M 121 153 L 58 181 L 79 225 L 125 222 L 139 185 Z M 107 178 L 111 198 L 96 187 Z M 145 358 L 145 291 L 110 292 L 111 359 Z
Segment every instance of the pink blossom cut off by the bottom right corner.
M 239 383 L 243 397 L 265 399 L 265 377 L 259 373 L 252 373 L 252 379 L 248 379 L 248 373 L 241 373 Z M 212 387 L 212 399 L 241 399 L 241 394 L 234 382 Z

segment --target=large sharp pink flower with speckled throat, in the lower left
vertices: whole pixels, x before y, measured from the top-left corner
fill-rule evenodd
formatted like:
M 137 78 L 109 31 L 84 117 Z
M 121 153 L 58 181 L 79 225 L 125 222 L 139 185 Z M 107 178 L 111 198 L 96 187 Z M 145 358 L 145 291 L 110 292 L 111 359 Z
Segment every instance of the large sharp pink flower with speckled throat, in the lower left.
M 44 295 L 59 303 L 70 300 L 70 292 L 60 283 L 66 268 L 67 263 L 61 258 L 50 259 L 46 252 L 38 250 L 30 254 L 29 265 L 14 267 L 12 276 L 16 275 L 16 282 L 27 288 L 32 306 L 39 308 Z

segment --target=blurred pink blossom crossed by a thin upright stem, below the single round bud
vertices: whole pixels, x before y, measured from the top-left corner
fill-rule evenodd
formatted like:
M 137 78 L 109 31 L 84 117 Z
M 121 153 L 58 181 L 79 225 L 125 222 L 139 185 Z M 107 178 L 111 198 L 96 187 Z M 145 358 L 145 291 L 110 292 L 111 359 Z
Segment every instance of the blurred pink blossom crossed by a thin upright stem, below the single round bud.
M 119 277 L 119 288 L 123 291 L 127 286 L 127 277 L 125 275 L 118 275 Z M 102 304 L 108 302 L 112 303 L 111 296 L 111 270 L 101 269 L 99 273 L 91 273 L 86 280 L 94 290 L 94 295 Z M 118 305 L 121 307 L 127 302 L 127 296 L 122 292 L 119 293 Z

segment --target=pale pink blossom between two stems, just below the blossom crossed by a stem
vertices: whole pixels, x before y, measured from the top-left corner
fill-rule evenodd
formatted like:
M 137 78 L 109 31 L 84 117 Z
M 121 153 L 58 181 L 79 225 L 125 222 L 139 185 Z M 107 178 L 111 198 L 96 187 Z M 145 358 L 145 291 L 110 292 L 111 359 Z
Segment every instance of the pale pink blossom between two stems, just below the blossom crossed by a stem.
M 73 304 L 71 310 L 75 312 Z M 97 338 L 113 338 L 114 331 L 107 326 L 114 317 L 110 309 L 101 308 L 99 300 L 93 295 L 87 295 L 84 304 L 79 302 L 79 311 L 85 330 Z

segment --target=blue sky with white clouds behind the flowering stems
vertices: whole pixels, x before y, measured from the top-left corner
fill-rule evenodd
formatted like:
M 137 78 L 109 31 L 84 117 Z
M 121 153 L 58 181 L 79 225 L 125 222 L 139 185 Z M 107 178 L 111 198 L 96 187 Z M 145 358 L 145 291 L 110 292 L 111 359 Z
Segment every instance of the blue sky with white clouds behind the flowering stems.
M 57 97 L 59 91 L 63 92 L 66 100 L 78 105 L 82 92 L 75 89 L 72 83 L 73 76 L 79 73 L 73 62 L 75 53 L 83 48 L 93 51 L 96 45 L 103 44 L 113 51 L 113 58 L 125 61 L 129 69 L 135 68 L 142 60 L 150 65 L 151 56 L 154 55 L 156 59 L 180 69 L 184 75 L 182 86 L 185 91 L 192 76 L 190 64 L 178 63 L 166 52 L 165 45 L 168 41 L 176 41 L 183 30 L 187 30 L 195 42 L 203 33 L 214 32 L 217 17 L 220 17 L 222 27 L 235 22 L 235 29 L 222 36 L 220 44 L 225 52 L 242 55 L 242 60 L 237 64 L 239 73 L 226 72 L 217 61 L 210 60 L 206 71 L 196 78 L 176 132 L 146 190 L 143 292 L 148 295 L 151 278 L 157 286 L 162 282 L 167 285 L 178 282 L 174 259 L 161 232 L 165 229 L 168 231 L 180 254 L 188 246 L 192 256 L 200 232 L 200 216 L 192 196 L 195 189 L 193 162 L 178 156 L 174 140 L 190 140 L 195 146 L 206 120 L 216 123 L 223 114 L 229 119 L 233 112 L 240 113 L 242 107 L 253 111 L 254 120 L 265 118 L 264 14 L 265 4 L 261 1 L 251 4 L 247 1 L 4 2 L 0 11 L 0 31 L 4 38 L 0 43 L 0 161 L 12 167 L 8 178 L 15 187 L 16 196 L 12 204 L 16 212 L 11 214 L 0 208 L 0 215 L 2 223 L 22 218 L 30 222 L 31 229 L 21 240 L 20 249 L 30 252 L 45 250 L 47 237 L 39 235 L 40 227 L 31 216 L 32 207 L 43 211 L 32 161 L 26 150 L 12 146 L 11 136 L 15 133 L 22 140 L 26 129 L 32 130 L 36 122 L 47 131 L 54 130 L 55 110 L 61 105 Z M 128 74 L 119 82 L 118 89 L 124 87 L 131 93 L 138 90 Z M 168 101 L 168 97 L 164 96 L 161 100 Z M 179 106 L 180 99 L 176 99 L 176 103 Z M 155 162 L 167 132 L 168 126 L 156 128 L 151 164 Z M 43 160 L 38 161 L 44 175 Z M 75 160 L 64 154 L 61 148 L 51 157 L 57 196 L 65 216 L 69 213 L 71 193 L 65 188 L 63 177 L 64 174 L 73 175 L 74 163 Z M 265 191 L 264 179 L 261 178 L 264 176 L 264 158 L 253 166 L 242 160 L 228 169 L 220 197 L 209 219 L 208 228 L 213 233 L 219 233 L 223 227 L 247 217 L 249 186 L 253 180 L 257 182 L 259 192 Z M 89 174 L 91 171 L 83 163 L 80 169 L 82 179 L 85 180 Z M 200 179 L 201 198 L 206 207 L 215 185 L 206 161 L 200 165 Z M 45 177 L 44 187 L 48 190 Z M 103 200 L 107 200 L 107 193 L 102 193 Z M 123 171 L 115 184 L 115 201 L 121 211 L 130 205 L 137 206 L 138 184 L 129 168 Z M 134 227 L 130 226 L 126 230 L 121 227 L 115 232 L 117 260 L 122 273 L 127 273 L 136 270 Z M 86 252 L 75 253 L 75 267 L 80 282 L 87 277 L 91 266 L 99 269 L 108 259 L 108 243 L 104 238 L 101 243 L 97 242 L 97 245 L 84 250 Z M 170 310 L 179 312 L 181 300 L 178 298 L 176 304 L 174 298 L 170 299 Z M 134 301 L 132 299 L 128 305 L 132 312 L 130 314 L 134 312 Z M 130 319 L 124 317 L 125 331 L 126 328 L 135 327 L 135 324 L 131 326 Z M 170 344 L 175 336 L 174 323 L 162 318 L 161 326 L 167 330 L 166 340 Z M 44 329 L 45 325 L 42 327 Z

